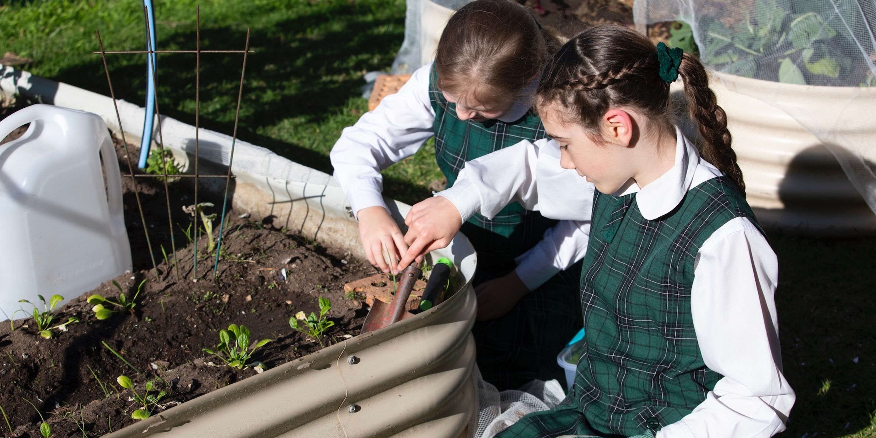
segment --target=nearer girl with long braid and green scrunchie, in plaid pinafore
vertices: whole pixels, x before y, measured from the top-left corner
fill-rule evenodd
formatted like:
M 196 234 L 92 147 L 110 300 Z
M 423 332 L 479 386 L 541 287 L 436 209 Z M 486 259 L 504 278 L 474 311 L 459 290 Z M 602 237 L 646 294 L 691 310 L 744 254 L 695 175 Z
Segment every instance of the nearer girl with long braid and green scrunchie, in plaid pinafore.
M 701 149 L 673 124 L 676 77 Z M 489 217 L 505 202 L 564 219 L 592 212 L 574 384 L 559 406 L 497 436 L 768 438 L 784 430 L 795 393 L 782 375 L 777 260 L 745 202 L 703 65 L 628 29 L 598 26 L 555 54 L 535 106 L 551 139 L 473 160 L 454 187 L 415 205 L 399 265 L 438 246 L 448 224 L 473 212 Z

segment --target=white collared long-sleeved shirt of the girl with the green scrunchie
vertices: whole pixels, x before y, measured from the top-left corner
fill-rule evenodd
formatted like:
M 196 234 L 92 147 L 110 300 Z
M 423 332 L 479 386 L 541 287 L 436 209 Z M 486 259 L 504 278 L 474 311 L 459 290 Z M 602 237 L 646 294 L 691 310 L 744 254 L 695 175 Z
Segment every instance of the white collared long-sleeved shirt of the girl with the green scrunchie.
M 616 194 L 635 193 L 648 220 L 666 215 L 691 188 L 722 175 L 681 131 L 675 135 L 675 166 L 646 187 L 631 183 Z M 547 217 L 590 219 L 583 212 L 592 208 L 594 188 L 571 186 L 556 170 L 559 157 L 553 140 L 521 142 L 470 161 L 454 187 L 438 195 L 452 201 L 463 218 L 475 212 L 489 217 L 519 201 Z M 657 438 L 768 438 L 785 430 L 795 393 L 782 375 L 777 279 L 775 253 L 747 218 L 732 219 L 706 239 L 696 254 L 690 307 L 703 360 L 724 378 Z

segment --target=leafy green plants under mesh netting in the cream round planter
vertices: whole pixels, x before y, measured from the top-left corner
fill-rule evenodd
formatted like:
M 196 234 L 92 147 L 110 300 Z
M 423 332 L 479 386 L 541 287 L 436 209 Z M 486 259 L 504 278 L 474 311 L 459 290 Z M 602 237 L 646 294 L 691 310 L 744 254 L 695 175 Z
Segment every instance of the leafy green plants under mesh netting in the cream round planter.
M 639 0 L 636 23 L 689 23 L 710 68 L 764 81 L 876 85 L 873 0 Z

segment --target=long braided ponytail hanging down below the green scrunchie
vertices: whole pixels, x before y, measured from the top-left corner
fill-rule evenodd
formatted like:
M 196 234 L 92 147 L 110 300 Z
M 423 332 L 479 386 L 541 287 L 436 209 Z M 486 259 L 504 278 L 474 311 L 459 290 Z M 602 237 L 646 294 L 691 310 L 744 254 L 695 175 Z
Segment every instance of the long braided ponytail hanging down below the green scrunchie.
M 682 57 L 678 74 L 684 81 L 684 95 L 688 99 L 690 117 L 696 119 L 703 136 L 702 153 L 705 159 L 724 172 L 745 193 L 742 170 L 736 163 L 736 152 L 731 148 L 732 138 L 727 130 L 727 114 L 717 105 L 715 93 L 709 88 L 709 75 L 703 64 L 688 53 Z

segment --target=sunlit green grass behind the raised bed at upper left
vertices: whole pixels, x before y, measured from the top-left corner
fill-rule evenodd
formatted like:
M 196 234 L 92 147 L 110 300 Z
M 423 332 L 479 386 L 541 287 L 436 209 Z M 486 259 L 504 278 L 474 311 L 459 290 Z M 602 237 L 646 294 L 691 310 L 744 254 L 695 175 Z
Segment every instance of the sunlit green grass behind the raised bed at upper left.
M 163 0 L 155 2 L 157 48 L 241 50 L 251 28 L 238 138 L 331 172 L 329 151 L 367 110 L 363 74 L 389 70 L 404 36 L 404 0 Z M 12 0 L 0 6 L 0 48 L 34 60 L 25 68 L 109 95 L 95 30 L 104 48 L 145 49 L 142 2 Z M 145 55 L 110 54 L 117 97 L 145 104 Z M 242 55 L 201 56 L 201 126 L 230 134 Z M 194 124 L 194 54 L 159 54 L 159 109 Z M 413 203 L 442 175 L 433 151 L 385 171 L 385 192 Z M 414 182 L 416 181 L 416 182 Z M 422 182 L 420 182 L 422 181 Z

